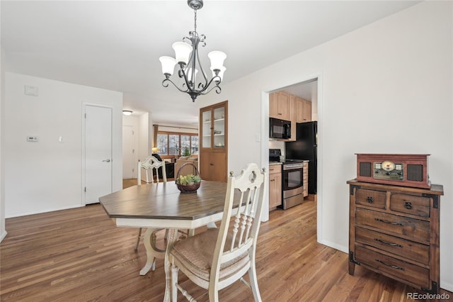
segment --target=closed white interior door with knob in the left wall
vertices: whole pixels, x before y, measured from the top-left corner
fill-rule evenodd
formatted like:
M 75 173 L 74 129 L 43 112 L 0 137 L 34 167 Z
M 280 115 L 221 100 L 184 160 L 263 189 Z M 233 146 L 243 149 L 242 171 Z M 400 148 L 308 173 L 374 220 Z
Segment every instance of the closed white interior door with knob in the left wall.
M 86 105 L 84 129 L 84 203 L 98 203 L 112 193 L 112 108 Z

